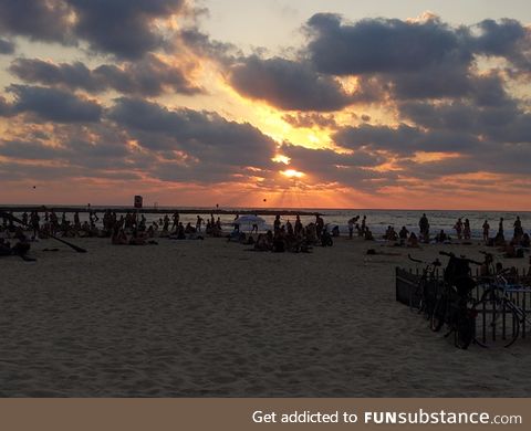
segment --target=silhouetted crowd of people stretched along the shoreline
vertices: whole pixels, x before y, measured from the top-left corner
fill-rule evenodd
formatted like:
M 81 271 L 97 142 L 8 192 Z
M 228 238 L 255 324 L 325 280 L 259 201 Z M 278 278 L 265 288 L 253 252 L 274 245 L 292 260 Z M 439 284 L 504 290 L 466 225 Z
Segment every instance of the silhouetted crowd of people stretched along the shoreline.
M 309 252 L 314 245 L 330 246 L 333 244 L 333 238 L 340 236 L 337 225 L 329 227 L 325 224 L 321 214 L 315 214 L 315 220 L 303 225 L 300 216 L 295 217 L 293 223 L 291 220 L 283 220 L 281 214 L 277 214 L 272 229 L 259 232 L 257 222 L 252 223 L 252 230 L 248 233 L 240 231 L 241 218 L 236 214 L 232 223 L 221 223 L 220 217 L 210 214 L 207 220 L 197 216 L 195 223 L 180 220 L 179 212 L 164 214 L 157 221 L 147 222 L 144 213 L 138 211 L 126 211 L 117 213 L 111 209 L 101 211 L 100 214 L 88 210 L 85 221 L 81 222 L 80 212 L 73 212 L 70 219 L 65 212 L 59 216 L 55 210 L 35 210 L 23 212 L 21 219 L 13 218 L 12 212 L 2 212 L 3 221 L 0 224 L 0 232 L 10 232 L 10 234 L 0 235 L 3 238 L 2 253 L 8 254 L 7 240 L 13 238 L 21 243 L 29 243 L 31 240 L 45 239 L 49 236 L 61 238 L 110 238 L 115 245 L 145 245 L 156 244 L 155 239 L 168 238 L 170 240 L 202 240 L 206 236 L 227 238 L 228 241 L 239 242 L 252 245 L 256 251 L 274 252 Z M 259 218 L 257 218 L 258 220 Z M 18 220 L 20 223 L 15 223 Z M 481 227 L 482 241 L 486 245 L 503 248 L 507 256 L 523 256 L 523 250 L 530 248 L 530 234 L 524 231 L 520 217 L 513 222 L 513 235 L 509 241 L 504 238 L 504 220 L 500 218 L 498 230 L 491 235 L 489 221 L 486 220 Z M 229 230 L 225 230 L 229 227 Z M 348 239 L 354 238 L 356 232 L 358 238 L 366 241 L 376 241 L 373 231 L 369 229 L 367 217 L 356 216 L 348 220 Z M 461 244 L 468 244 L 471 241 L 471 225 L 468 218 L 458 218 L 452 227 L 455 235 L 450 235 L 445 230 L 439 230 L 433 234 L 429 220 L 424 213 L 418 221 L 418 234 L 405 225 L 398 231 L 393 225 L 388 225 L 382 236 L 385 241 L 395 246 L 418 248 L 420 244 L 445 243 L 449 244 L 457 240 Z M 31 238 L 27 236 L 30 232 Z M 24 245 L 22 249 L 25 249 Z M 18 249 L 18 250 L 22 250 Z

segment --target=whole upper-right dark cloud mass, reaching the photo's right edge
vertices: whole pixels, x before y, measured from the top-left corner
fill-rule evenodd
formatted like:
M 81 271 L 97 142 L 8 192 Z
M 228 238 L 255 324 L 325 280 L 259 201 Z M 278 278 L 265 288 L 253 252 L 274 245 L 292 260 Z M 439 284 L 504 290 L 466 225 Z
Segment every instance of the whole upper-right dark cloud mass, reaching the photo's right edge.
M 473 71 L 478 55 L 531 64 L 530 32 L 513 20 L 452 28 L 433 15 L 345 23 L 340 15 L 320 13 L 306 28 L 306 55 L 319 72 L 373 76 L 402 99 L 473 94 L 480 80 Z

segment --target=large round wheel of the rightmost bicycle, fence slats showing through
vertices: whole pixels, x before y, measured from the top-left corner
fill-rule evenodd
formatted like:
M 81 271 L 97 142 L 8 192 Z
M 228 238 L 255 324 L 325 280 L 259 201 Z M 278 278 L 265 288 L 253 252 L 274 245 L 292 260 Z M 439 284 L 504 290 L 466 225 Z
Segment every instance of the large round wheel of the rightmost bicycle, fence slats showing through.
M 472 309 L 477 313 L 475 341 L 481 347 L 509 347 L 520 334 L 520 317 L 504 297 L 485 296 Z

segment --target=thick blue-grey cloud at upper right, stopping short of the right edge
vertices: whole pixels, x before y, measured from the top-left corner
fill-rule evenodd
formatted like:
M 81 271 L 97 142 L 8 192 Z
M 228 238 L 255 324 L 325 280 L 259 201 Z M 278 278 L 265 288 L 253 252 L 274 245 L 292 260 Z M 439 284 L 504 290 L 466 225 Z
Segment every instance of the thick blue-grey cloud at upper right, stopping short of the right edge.
M 308 46 L 312 62 L 323 73 L 416 72 L 433 64 L 468 63 L 461 49 L 461 32 L 439 20 L 362 20 L 343 24 L 339 15 L 315 14 L 308 21 L 313 40 Z

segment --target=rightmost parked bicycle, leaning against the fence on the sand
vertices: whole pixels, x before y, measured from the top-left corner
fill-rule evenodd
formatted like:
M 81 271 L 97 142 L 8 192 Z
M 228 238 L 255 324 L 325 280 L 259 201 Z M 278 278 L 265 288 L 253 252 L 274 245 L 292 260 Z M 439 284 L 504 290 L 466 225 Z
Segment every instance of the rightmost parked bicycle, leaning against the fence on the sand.
M 525 322 L 531 324 L 527 313 L 509 295 L 525 293 L 529 288 L 510 284 L 506 278 L 510 270 L 504 270 L 496 274 L 487 284 L 481 298 L 473 305 L 476 313 L 481 315 L 476 322 L 476 333 L 482 334 L 481 337 L 476 337 L 476 343 L 481 347 L 510 347 L 518 339 L 520 327 Z

